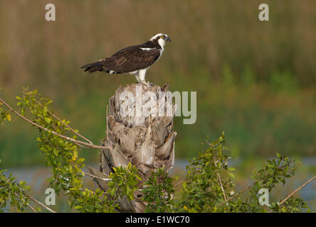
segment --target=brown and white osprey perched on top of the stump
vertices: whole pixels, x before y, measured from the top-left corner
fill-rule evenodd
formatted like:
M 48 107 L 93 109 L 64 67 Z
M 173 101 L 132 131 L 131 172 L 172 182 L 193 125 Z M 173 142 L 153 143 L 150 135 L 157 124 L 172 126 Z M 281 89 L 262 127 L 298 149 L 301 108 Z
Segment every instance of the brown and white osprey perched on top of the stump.
M 168 35 L 159 33 L 152 36 L 146 43 L 124 48 L 111 57 L 83 65 L 81 69 L 90 73 L 96 71 L 110 74 L 130 73 L 135 75 L 139 83 L 149 86 L 145 80 L 145 74 L 149 67 L 162 56 L 167 41 L 171 42 Z

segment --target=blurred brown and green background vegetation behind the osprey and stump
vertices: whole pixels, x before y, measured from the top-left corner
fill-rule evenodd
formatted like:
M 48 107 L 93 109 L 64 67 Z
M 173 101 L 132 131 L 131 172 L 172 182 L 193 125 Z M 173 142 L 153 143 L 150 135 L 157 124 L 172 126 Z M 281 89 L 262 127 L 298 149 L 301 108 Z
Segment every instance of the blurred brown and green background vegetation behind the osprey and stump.
M 48 3 L 56 5 L 56 21 L 45 20 Z M 38 89 L 53 99 L 58 116 L 98 143 L 109 97 L 136 80 L 86 74 L 80 66 L 167 33 L 172 43 L 146 79 L 169 83 L 172 92 L 197 92 L 196 123 L 175 120 L 178 159 L 196 156 L 206 136 L 216 140 L 221 131 L 240 160 L 276 152 L 310 159 L 316 155 L 316 1 L 267 0 L 268 22 L 258 20 L 260 3 L 0 0 L 1 96 L 15 105 L 23 86 Z M 43 165 L 35 139 L 36 130 L 20 119 L 1 126 L 1 167 Z M 98 152 L 82 155 L 98 162 Z

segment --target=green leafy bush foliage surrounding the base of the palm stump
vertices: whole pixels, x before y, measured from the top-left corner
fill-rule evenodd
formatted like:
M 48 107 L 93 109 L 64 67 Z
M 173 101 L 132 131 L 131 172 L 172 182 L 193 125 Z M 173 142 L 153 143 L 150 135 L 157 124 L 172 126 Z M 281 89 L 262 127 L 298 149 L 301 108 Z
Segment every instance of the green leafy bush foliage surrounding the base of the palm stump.
M 224 133 L 215 142 L 207 141 L 209 148 L 189 160 L 179 194 L 174 190 L 177 177 L 172 178 L 164 169 L 159 168 L 146 182 L 141 182 L 137 168 L 130 164 L 114 169 L 107 179 L 107 191 L 88 189 L 83 184 L 87 174 L 83 172 L 84 159 L 79 157 L 78 150 L 92 143 L 80 142 L 78 131 L 70 128 L 69 121 L 60 120 L 49 111 L 52 101 L 37 91 L 23 89 L 23 96 L 16 99 L 19 112 L 0 98 L 1 122 L 11 121 L 13 112 L 36 126 L 36 140 L 52 172 L 48 182 L 57 194 L 64 192 L 70 207 L 79 212 L 118 212 L 120 205 L 116 201 L 125 197 L 134 200 L 136 191 L 141 192 L 142 200 L 147 202 L 146 212 L 300 212 L 306 205 L 301 198 L 293 196 L 260 205 L 260 189 L 271 192 L 295 173 L 295 160 L 279 154 L 268 160 L 261 170 L 253 172 L 253 184 L 236 192 L 234 168 L 228 167 L 231 157 L 228 157 Z M 24 211 L 26 206 L 34 212 L 41 211 L 31 206 L 26 182 L 18 182 L 12 175 L 6 177 L 4 172 L 0 172 L 0 210 L 4 211 L 10 201 L 18 211 Z M 42 206 L 35 199 L 32 201 Z

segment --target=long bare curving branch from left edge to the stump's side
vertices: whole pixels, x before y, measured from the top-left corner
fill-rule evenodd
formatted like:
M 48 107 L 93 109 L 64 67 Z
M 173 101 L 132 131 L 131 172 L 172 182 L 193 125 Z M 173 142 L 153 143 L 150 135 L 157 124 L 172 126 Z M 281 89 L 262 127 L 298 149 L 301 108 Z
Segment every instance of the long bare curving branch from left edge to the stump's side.
M 110 149 L 110 147 L 105 147 L 105 146 L 100 146 L 100 145 L 95 145 L 93 143 L 85 143 L 83 141 L 80 141 L 80 140 L 75 140 L 73 138 L 70 138 L 68 136 L 65 136 L 65 135 L 61 135 L 59 133 L 56 133 L 55 131 L 51 131 L 49 130 L 48 128 L 45 128 L 43 126 L 40 126 L 38 125 L 37 123 L 34 123 L 33 121 L 29 120 L 28 118 L 26 118 L 25 116 L 22 116 L 21 114 L 19 114 L 19 112 L 15 111 L 11 106 L 9 106 L 9 104 L 7 104 L 3 99 L 0 98 L 0 101 L 6 106 L 8 107 L 11 111 L 14 112 L 14 114 L 16 114 L 17 116 L 19 116 L 20 118 L 22 118 L 24 121 L 27 121 L 28 123 L 31 123 L 33 126 L 36 126 L 38 128 L 41 128 L 43 129 L 44 131 L 48 131 L 50 133 L 53 133 L 54 135 L 58 135 L 60 138 L 64 138 L 65 140 L 68 140 L 72 143 L 79 143 L 80 145 L 85 145 L 89 148 L 95 148 L 95 149 Z

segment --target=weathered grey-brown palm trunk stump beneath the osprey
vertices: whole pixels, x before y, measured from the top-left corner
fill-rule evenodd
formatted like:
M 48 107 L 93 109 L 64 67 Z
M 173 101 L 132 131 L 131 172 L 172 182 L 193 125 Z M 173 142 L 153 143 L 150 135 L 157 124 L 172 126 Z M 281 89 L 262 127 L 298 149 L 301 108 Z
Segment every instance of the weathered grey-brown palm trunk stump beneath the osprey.
M 146 181 L 151 172 L 157 168 L 166 167 L 169 171 L 173 167 L 174 138 L 177 135 L 173 131 L 175 106 L 172 104 L 171 92 L 169 96 L 168 93 L 167 96 L 162 96 L 166 92 L 169 92 L 168 84 L 163 87 L 132 84 L 116 90 L 115 95 L 110 98 L 106 137 L 100 140 L 100 145 L 109 146 L 110 149 L 100 151 L 100 172 L 90 168 L 93 175 L 105 177 L 110 175 L 112 167 L 127 166 L 131 162 L 137 167 L 142 180 Z M 142 94 L 142 97 L 139 97 L 139 94 Z M 156 96 L 156 100 L 151 99 L 153 100 L 151 103 L 155 105 L 149 108 L 147 108 L 150 106 L 147 94 Z M 124 96 L 133 96 L 135 102 L 127 105 L 128 102 L 122 101 Z M 170 99 L 171 102 L 169 102 Z M 157 107 L 156 114 L 152 109 L 155 106 Z M 152 113 L 139 114 L 139 107 L 142 112 L 147 108 Z M 164 113 L 162 114 L 161 111 Z M 134 116 L 127 113 L 134 113 Z M 106 182 L 98 179 L 95 179 L 95 182 L 101 189 L 107 189 Z M 118 201 L 121 206 L 120 211 L 144 211 L 146 204 L 141 201 L 141 196 L 142 194 L 136 193 L 137 199 L 132 202 L 127 199 Z

